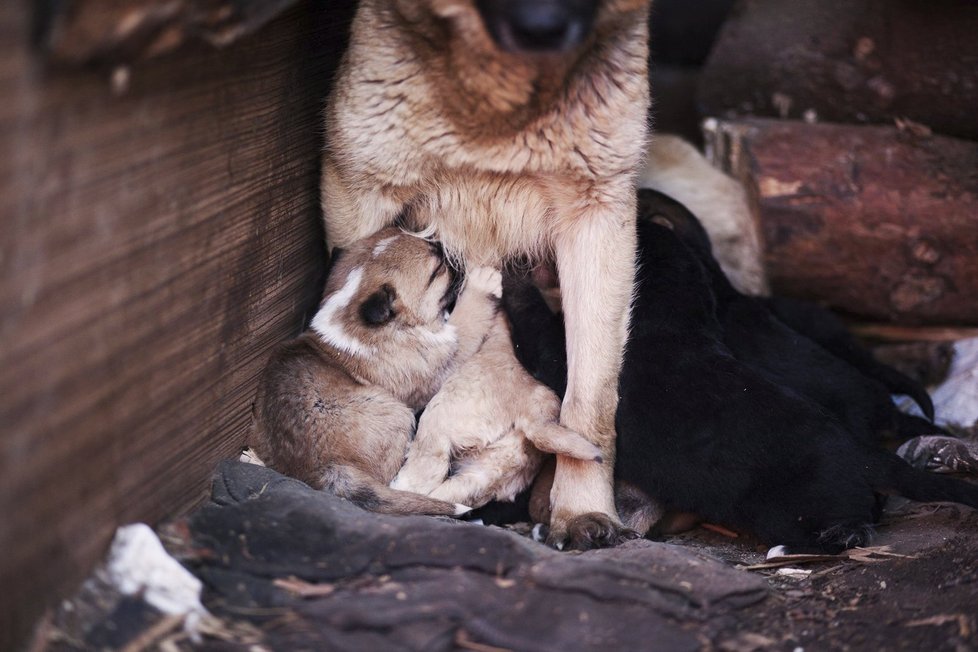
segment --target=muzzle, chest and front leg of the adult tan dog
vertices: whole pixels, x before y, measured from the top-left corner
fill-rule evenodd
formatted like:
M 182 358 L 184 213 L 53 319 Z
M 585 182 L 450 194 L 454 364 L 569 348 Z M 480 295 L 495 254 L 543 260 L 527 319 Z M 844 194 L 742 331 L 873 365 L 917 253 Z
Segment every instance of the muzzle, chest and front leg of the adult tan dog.
M 550 542 L 614 545 L 617 379 L 645 152 L 648 0 L 361 0 L 326 113 L 330 246 L 407 205 L 467 265 L 553 255 L 567 322 Z

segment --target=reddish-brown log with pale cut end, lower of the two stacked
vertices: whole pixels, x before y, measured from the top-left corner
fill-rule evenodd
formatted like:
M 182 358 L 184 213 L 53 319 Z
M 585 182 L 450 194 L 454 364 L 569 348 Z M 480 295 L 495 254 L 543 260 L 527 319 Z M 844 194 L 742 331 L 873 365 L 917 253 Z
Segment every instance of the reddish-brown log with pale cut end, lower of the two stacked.
M 978 324 L 978 143 L 891 127 L 711 121 L 772 291 L 902 324 Z

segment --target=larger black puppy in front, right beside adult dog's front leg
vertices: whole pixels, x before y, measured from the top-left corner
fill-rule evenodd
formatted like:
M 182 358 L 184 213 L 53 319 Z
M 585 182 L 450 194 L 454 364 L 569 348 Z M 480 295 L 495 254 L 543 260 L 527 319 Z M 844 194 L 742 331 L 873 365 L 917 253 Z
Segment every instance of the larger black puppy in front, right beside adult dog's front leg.
M 723 342 L 710 272 L 670 228 L 641 220 L 639 245 L 620 378 L 617 481 L 667 509 L 752 532 L 789 552 L 865 544 L 879 516 L 877 492 L 978 507 L 978 487 L 911 468 L 738 361 Z M 532 287 L 514 279 L 507 285 L 517 355 L 559 386 L 559 324 Z

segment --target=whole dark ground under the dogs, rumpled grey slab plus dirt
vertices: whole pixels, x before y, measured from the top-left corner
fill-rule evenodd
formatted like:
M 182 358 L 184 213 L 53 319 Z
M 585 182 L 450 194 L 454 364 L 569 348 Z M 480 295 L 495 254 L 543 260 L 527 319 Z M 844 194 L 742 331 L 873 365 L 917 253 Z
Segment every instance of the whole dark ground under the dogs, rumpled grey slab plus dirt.
M 978 650 L 978 512 L 965 507 L 891 507 L 872 548 L 775 566 L 703 528 L 556 553 L 498 528 L 369 514 L 256 469 L 224 468 L 209 505 L 163 528 L 207 587 L 199 643 L 96 573 L 37 649 Z

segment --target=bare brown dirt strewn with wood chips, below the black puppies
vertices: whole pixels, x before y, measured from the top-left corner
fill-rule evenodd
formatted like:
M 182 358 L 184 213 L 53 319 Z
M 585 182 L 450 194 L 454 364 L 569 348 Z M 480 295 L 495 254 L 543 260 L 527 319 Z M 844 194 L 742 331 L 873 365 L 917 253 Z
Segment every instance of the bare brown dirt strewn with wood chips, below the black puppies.
M 966 507 L 904 503 L 888 509 L 873 547 L 779 568 L 763 568 L 760 547 L 702 528 L 669 542 L 762 566 L 747 572 L 773 589 L 707 648 L 978 650 L 978 512 Z

